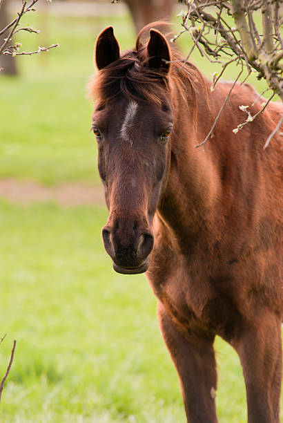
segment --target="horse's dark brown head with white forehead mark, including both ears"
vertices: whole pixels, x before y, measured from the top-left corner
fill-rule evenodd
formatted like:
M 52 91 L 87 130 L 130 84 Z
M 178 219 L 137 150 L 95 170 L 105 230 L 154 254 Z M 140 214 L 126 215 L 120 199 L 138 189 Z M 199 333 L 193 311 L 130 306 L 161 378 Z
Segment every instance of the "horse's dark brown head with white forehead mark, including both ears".
M 120 56 L 113 28 L 97 39 L 97 104 L 92 130 L 109 217 L 102 229 L 106 252 L 119 273 L 148 269 L 153 216 L 166 184 L 173 108 L 168 87 L 170 50 L 164 36 Z

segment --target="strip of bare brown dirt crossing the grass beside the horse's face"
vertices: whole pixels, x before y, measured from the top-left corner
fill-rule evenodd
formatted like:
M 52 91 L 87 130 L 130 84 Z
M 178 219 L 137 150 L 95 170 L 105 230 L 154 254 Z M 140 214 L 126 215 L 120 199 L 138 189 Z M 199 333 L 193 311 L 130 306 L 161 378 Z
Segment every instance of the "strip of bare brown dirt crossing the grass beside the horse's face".
M 55 201 L 59 205 L 70 207 L 105 205 L 102 187 L 79 182 L 47 187 L 34 180 L 0 179 L 0 198 L 23 205 L 44 201 Z

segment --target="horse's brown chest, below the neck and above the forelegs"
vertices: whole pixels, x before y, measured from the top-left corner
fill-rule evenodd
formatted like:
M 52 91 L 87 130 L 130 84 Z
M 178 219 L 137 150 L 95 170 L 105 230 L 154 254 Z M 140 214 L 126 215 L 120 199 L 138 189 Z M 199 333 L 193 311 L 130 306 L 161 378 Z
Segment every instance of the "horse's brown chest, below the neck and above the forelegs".
M 235 332 L 240 313 L 235 302 L 219 293 L 207 277 L 191 279 L 186 267 L 176 266 L 148 275 L 153 292 L 182 330 L 209 332 L 229 339 Z

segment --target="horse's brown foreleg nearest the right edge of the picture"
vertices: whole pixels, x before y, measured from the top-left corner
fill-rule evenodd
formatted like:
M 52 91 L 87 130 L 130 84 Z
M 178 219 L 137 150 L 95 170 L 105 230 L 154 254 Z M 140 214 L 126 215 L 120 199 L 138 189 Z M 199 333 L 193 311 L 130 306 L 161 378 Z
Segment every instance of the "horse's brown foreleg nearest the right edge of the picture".
M 235 349 L 240 356 L 246 383 L 248 423 L 279 423 L 282 379 L 280 319 L 266 312 L 257 323 L 244 325 Z

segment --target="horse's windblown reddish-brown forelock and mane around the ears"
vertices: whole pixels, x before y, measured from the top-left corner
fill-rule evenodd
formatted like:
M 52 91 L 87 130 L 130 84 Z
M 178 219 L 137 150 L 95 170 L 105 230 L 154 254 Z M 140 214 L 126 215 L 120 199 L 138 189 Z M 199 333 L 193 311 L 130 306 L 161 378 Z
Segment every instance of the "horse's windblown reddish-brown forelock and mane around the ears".
M 159 71 L 153 71 L 148 66 L 146 44 L 144 40 L 146 32 L 154 26 L 168 25 L 164 22 L 150 23 L 145 26 L 137 36 L 135 49 L 128 50 L 121 54 L 121 57 L 112 64 L 96 73 L 89 84 L 90 97 L 93 100 L 106 103 L 117 95 L 124 96 L 129 100 L 146 100 L 147 102 L 160 104 L 160 91 L 158 83 L 163 81 L 166 91 L 170 92 L 172 84 L 182 95 L 188 99 L 188 88 L 191 87 L 192 101 L 196 106 L 196 96 L 199 87 L 204 86 L 204 77 L 195 65 L 186 62 L 181 53 L 175 48 L 170 48 L 171 65 L 169 77 L 164 77 Z M 196 110 L 195 110 L 196 111 Z

